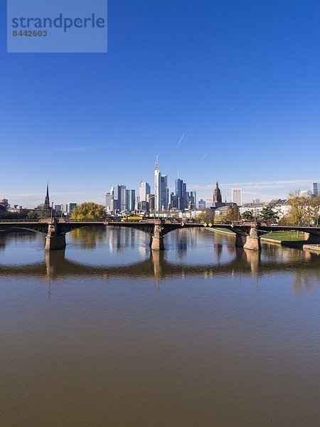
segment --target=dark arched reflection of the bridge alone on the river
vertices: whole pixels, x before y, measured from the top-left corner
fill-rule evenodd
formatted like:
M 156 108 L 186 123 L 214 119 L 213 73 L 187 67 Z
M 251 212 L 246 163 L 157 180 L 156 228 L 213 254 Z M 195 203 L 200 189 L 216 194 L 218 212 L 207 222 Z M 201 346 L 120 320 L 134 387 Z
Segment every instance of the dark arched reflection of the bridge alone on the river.
M 278 247 L 271 250 L 279 252 Z M 166 259 L 162 251 L 150 251 L 149 258 L 137 263 L 127 265 L 86 265 L 65 257 L 65 250 L 46 251 L 45 260 L 27 265 L 0 265 L 0 275 L 15 277 L 37 277 L 46 280 L 55 280 L 65 277 L 100 277 L 108 278 L 136 278 L 153 279 L 160 281 L 166 278 L 184 278 L 192 276 L 203 276 L 212 278 L 216 275 L 251 275 L 259 277 L 273 273 L 287 272 L 295 273 L 294 287 L 299 289 L 302 282 L 307 283 L 309 276 L 313 276 L 320 283 L 320 256 L 309 251 L 298 251 L 287 249 L 287 257 L 275 261 L 262 259 L 261 252 L 250 251 L 242 248 L 233 248 L 233 258 L 228 262 L 219 262 L 219 256 L 223 251 L 221 243 L 215 243 L 215 255 L 217 263 L 186 265 L 183 263 L 172 263 Z M 299 268 L 306 261 L 303 268 Z

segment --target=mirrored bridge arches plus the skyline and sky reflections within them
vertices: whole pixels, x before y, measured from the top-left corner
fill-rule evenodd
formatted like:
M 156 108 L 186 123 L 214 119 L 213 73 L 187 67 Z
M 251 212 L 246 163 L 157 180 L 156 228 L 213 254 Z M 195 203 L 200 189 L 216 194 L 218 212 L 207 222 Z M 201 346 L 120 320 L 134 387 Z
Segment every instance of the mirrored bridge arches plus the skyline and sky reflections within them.
M 11 248 L 14 253 L 17 244 L 28 247 L 37 241 L 36 236 L 27 231 L 4 233 L 0 244 L 3 251 L 7 248 L 10 253 Z M 297 291 L 314 291 L 317 288 L 314 279 L 320 280 L 320 256 L 309 251 L 274 245 L 265 245 L 262 252 L 235 248 L 232 236 L 206 233 L 205 230 L 174 231 L 166 238 L 168 250 L 157 253 L 149 250 L 149 236 L 131 228 L 81 228 L 70 233 L 66 251 L 41 251 L 42 260 L 39 260 L 39 251 L 33 256 L 33 263 L 30 262 L 32 251 L 28 251 L 28 257 L 21 257 L 14 263 L 5 262 L 11 260 L 10 256 L 1 257 L 0 274 L 39 276 L 48 280 L 100 275 L 159 281 L 195 275 L 204 278 L 214 275 L 259 277 L 292 271 L 293 288 Z

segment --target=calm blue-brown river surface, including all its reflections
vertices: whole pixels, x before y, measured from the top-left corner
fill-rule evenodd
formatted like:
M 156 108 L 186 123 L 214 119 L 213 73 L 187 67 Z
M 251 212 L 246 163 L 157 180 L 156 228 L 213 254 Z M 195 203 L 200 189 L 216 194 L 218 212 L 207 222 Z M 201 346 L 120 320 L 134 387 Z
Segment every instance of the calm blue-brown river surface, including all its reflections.
M 320 256 L 206 230 L 165 247 L 0 235 L 1 426 L 319 425 Z

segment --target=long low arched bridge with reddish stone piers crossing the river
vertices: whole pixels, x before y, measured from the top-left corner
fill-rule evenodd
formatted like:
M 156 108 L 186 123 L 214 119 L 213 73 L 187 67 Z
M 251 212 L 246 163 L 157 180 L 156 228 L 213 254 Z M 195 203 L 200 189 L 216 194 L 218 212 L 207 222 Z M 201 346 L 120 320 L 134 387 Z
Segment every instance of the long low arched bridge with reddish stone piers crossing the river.
M 171 231 L 181 228 L 220 228 L 235 234 L 235 246 L 254 251 L 261 250 L 260 236 L 270 231 L 302 231 L 305 233 L 305 243 L 320 243 L 320 227 L 316 226 L 267 226 L 262 223 L 183 223 L 174 220 L 149 219 L 142 222 L 116 221 L 73 221 L 63 218 L 52 220 L 20 220 L 0 221 L 0 230 L 22 228 L 46 235 L 46 250 L 52 251 L 65 248 L 65 233 L 83 227 L 125 227 L 135 228 L 150 236 L 150 248 L 153 251 L 164 250 L 164 236 Z

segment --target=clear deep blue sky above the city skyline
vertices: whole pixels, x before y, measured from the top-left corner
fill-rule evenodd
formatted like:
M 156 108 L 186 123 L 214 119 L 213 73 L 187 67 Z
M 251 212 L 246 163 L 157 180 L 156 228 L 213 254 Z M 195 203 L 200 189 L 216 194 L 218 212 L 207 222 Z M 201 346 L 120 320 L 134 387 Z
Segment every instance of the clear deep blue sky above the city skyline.
M 6 53 L 0 198 L 104 203 L 113 184 L 284 197 L 320 181 L 318 0 L 109 0 L 108 53 Z M 181 136 L 185 134 L 181 143 Z M 178 147 L 177 147 L 178 145 Z

